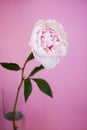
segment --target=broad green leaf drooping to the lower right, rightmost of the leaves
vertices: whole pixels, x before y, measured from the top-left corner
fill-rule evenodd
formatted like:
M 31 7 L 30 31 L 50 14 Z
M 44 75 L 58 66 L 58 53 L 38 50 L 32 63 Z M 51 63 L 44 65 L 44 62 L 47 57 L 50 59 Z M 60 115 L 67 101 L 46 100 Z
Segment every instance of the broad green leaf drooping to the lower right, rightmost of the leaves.
M 49 86 L 49 84 L 47 83 L 46 80 L 40 79 L 40 78 L 33 78 L 32 80 L 34 80 L 36 82 L 36 84 L 38 85 L 39 89 L 45 93 L 46 95 L 53 97 L 52 95 L 52 91 L 51 88 Z

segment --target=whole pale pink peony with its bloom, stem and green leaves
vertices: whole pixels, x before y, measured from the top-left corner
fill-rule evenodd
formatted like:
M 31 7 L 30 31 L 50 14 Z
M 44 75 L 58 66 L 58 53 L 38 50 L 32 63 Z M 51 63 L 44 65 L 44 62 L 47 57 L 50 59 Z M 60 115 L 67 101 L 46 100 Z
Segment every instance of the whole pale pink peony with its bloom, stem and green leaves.
M 20 67 L 16 63 L 1 62 L 0 65 L 5 69 L 11 71 L 21 71 L 20 84 L 17 89 L 13 110 L 7 113 L 5 118 L 13 122 L 13 130 L 17 130 L 16 120 L 22 118 L 21 113 L 17 112 L 17 102 L 24 84 L 24 99 L 28 100 L 32 92 L 32 81 L 34 81 L 41 92 L 53 97 L 52 90 L 48 82 L 42 78 L 33 78 L 33 76 L 42 69 L 51 69 L 60 62 L 60 60 L 66 55 L 68 49 L 67 34 L 63 29 L 63 26 L 57 23 L 55 20 L 39 20 L 33 29 L 29 45 L 32 48 L 31 54 L 25 60 L 23 67 Z M 31 70 L 30 74 L 25 78 L 24 71 L 26 64 L 33 59 L 38 60 L 41 65 L 36 66 Z M 20 115 L 20 117 L 18 116 Z M 10 115 L 10 118 L 8 118 Z

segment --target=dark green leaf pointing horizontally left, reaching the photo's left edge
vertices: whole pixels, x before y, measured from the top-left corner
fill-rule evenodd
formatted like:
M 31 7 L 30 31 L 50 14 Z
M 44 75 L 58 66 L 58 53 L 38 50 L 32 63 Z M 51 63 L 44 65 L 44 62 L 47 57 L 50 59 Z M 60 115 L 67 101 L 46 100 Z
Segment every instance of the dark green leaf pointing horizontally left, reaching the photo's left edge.
M 3 66 L 5 69 L 8 69 L 8 70 L 18 71 L 21 69 L 20 66 L 15 63 L 0 63 L 0 64 L 1 66 Z

